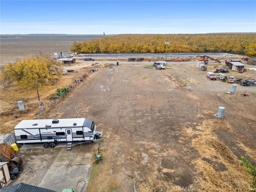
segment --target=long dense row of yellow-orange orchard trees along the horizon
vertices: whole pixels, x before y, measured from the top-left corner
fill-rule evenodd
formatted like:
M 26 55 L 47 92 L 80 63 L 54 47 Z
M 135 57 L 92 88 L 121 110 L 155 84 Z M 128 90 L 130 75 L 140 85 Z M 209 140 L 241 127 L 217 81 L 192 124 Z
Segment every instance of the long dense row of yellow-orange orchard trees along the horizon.
M 116 35 L 75 42 L 80 53 L 229 52 L 256 55 L 256 34 Z

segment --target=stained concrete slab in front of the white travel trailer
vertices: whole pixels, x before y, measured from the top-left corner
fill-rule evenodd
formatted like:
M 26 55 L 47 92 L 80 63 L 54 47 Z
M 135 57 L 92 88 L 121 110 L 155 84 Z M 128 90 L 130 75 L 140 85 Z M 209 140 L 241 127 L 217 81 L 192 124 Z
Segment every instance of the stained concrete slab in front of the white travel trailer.
M 24 170 L 10 185 L 24 182 L 55 191 L 76 188 L 79 179 L 90 179 L 93 143 L 73 145 L 72 150 L 65 144 L 51 149 L 42 145 L 23 145 L 19 156 L 23 159 Z

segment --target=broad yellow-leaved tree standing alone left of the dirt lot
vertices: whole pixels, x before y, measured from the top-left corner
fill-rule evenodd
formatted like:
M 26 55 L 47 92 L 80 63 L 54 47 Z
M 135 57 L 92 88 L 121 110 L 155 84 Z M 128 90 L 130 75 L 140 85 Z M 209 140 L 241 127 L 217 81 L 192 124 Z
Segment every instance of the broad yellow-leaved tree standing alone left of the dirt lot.
M 35 56 L 18 60 L 16 64 L 6 65 L 1 71 L 1 78 L 5 85 L 18 83 L 24 87 L 47 85 L 54 78 L 62 74 L 61 63 L 49 56 Z

